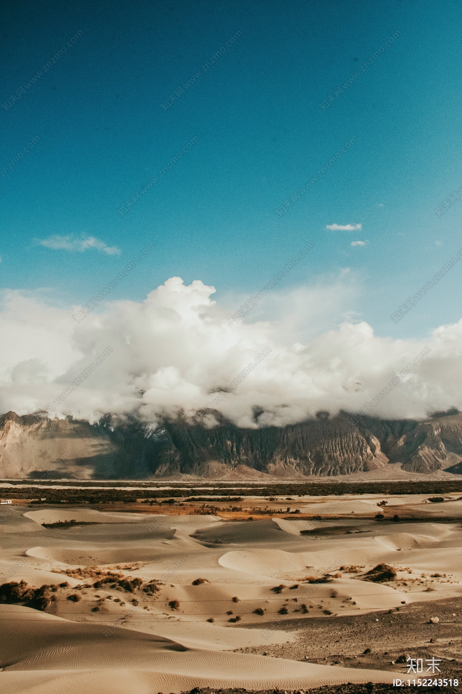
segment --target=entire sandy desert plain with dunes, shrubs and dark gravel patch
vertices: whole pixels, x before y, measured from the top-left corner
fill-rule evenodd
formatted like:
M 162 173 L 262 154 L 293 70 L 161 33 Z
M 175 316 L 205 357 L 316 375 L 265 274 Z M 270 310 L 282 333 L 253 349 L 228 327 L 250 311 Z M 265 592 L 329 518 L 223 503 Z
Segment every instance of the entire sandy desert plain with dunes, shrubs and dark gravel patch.
M 462 688 L 459 493 L 109 507 L 18 489 L 1 489 L 4 693 L 382 692 L 433 657 L 432 688 Z

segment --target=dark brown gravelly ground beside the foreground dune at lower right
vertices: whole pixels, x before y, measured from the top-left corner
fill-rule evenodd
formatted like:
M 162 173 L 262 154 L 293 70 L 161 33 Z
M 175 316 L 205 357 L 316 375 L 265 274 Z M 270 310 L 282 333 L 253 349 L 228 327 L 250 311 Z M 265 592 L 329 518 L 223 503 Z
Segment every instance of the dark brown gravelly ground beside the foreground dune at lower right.
M 390 670 L 402 672 L 402 675 L 407 673 L 407 668 L 396 661 L 403 654 L 405 657 L 423 658 L 424 672 L 427 668 L 425 659 L 434 656 L 441 659 L 438 666 L 441 674 L 438 677 L 459 678 L 462 691 L 462 598 L 414 602 L 402 606 L 399 611 L 393 609 L 390 612 L 387 610 L 360 616 L 311 618 L 292 624 L 284 621 L 281 628 L 285 631 L 293 629 L 296 641 L 242 648 L 238 651 L 319 665 Z M 438 624 L 429 623 L 429 618 L 434 616 L 440 619 Z M 260 628 L 266 627 L 262 625 Z M 364 653 L 367 649 L 370 652 Z M 425 674 L 419 677 L 425 677 Z M 361 686 L 357 688 L 357 685 L 351 685 L 353 688 L 341 690 L 323 687 L 322 692 L 360 692 Z M 391 689 L 376 688 L 375 691 L 382 693 Z

